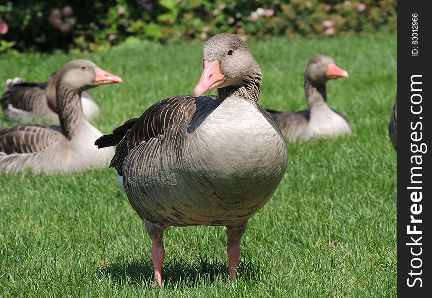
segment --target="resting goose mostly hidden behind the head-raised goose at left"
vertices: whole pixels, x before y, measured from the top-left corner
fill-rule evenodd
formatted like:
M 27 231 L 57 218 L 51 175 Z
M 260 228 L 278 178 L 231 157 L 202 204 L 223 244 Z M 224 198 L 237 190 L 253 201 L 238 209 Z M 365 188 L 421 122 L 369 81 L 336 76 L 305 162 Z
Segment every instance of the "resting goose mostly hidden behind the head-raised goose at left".
M 44 120 L 48 123 L 58 123 L 55 86 L 59 74 L 59 71 L 54 72 L 50 80 L 45 83 L 25 82 L 19 77 L 7 79 L 6 92 L 0 99 L 6 120 L 10 122 Z M 81 93 L 81 106 L 87 120 L 99 117 L 99 106 L 87 90 Z

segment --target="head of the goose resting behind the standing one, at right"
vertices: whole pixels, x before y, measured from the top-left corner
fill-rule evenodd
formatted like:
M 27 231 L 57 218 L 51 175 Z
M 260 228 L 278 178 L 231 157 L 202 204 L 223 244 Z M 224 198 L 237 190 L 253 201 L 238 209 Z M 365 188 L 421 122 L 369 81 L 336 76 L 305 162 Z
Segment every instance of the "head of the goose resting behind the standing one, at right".
M 333 58 L 316 55 L 309 60 L 304 77 L 314 84 L 324 85 L 330 79 L 348 77 L 348 72 L 340 69 Z

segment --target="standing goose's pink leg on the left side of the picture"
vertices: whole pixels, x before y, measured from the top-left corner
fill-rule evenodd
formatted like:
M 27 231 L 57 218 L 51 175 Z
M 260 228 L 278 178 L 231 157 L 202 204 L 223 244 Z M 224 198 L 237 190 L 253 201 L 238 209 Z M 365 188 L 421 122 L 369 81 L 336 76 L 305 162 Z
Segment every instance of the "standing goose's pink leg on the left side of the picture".
M 154 277 L 159 286 L 162 286 L 162 264 L 165 259 L 165 249 L 162 242 L 163 228 L 148 221 L 145 221 L 145 228 L 151 238 L 151 262 L 153 263 Z

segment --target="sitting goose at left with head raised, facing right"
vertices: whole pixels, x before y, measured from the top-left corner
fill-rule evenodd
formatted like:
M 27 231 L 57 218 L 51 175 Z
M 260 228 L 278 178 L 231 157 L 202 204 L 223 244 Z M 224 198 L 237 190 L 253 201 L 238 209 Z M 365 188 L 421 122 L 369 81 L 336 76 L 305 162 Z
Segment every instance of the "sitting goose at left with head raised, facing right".
M 19 125 L 0 127 L 0 173 L 32 170 L 46 174 L 105 167 L 114 149 L 93 145 L 102 133 L 85 118 L 80 93 L 97 85 L 121 82 L 88 60 L 74 60 L 59 72 L 56 98 L 60 127 Z

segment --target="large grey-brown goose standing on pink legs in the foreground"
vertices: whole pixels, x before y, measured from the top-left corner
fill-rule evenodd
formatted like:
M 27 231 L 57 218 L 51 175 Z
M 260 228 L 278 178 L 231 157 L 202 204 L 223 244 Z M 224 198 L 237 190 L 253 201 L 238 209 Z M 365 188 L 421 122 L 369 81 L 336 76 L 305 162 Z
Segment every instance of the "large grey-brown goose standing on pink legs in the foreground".
M 261 80 L 241 39 L 217 34 L 204 46 L 195 96 L 159 101 L 95 142 L 118 145 L 110 167 L 144 221 L 159 286 L 169 226 L 226 226 L 228 271 L 236 279 L 246 224 L 287 167 L 284 137 L 258 104 Z M 218 96 L 201 96 L 214 88 Z

